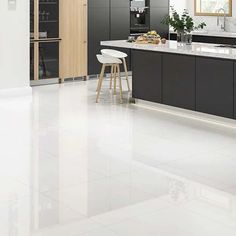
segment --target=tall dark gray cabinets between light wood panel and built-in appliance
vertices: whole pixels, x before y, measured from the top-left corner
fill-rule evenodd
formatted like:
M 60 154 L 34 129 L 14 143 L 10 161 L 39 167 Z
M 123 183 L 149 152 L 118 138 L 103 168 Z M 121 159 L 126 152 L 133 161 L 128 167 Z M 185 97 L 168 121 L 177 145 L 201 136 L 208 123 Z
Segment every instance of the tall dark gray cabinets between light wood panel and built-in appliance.
M 96 54 L 100 53 L 100 42 L 125 39 L 129 36 L 129 0 L 89 0 L 88 8 L 88 74 L 99 74 L 101 65 Z M 119 49 L 120 50 L 120 49 Z M 129 50 L 121 50 L 130 54 Z M 129 60 L 128 66 L 129 66 Z

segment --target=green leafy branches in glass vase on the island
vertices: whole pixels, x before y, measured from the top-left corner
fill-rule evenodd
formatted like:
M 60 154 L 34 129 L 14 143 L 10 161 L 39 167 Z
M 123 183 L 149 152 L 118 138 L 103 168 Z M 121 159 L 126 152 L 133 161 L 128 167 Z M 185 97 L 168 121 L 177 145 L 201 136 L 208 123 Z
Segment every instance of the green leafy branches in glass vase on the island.
M 166 16 L 162 23 L 171 26 L 177 33 L 177 42 L 191 44 L 193 30 L 203 29 L 206 26 L 205 22 L 194 25 L 193 18 L 189 15 L 188 11 L 185 9 L 180 16 L 174 7 L 171 8 L 171 16 Z

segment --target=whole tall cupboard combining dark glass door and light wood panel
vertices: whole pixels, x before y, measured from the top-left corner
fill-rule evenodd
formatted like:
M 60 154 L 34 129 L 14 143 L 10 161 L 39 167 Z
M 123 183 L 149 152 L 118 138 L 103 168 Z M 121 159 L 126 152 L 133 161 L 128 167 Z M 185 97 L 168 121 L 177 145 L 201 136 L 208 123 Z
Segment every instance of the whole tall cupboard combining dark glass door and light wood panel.
M 30 0 L 32 85 L 87 75 L 87 0 Z

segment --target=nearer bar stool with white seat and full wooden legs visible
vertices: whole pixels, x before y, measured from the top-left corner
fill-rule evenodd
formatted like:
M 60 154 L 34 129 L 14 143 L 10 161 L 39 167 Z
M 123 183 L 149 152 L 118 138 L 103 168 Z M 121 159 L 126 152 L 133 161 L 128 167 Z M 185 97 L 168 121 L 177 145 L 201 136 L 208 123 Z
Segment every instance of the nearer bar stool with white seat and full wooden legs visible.
M 106 67 L 111 67 L 111 80 L 114 78 L 114 92 L 116 94 L 116 79 L 119 78 L 119 90 L 120 90 L 120 102 L 122 103 L 123 95 L 122 95 L 122 84 L 121 84 L 121 77 L 120 77 L 120 64 L 122 61 L 118 58 L 114 57 L 106 57 L 104 55 L 97 55 L 98 61 L 102 64 L 101 73 L 98 80 L 97 85 L 97 98 L 96 103 L 99 101 L 100 92 L 102 88 L 102 82 L 104 80 L 104 73 Z

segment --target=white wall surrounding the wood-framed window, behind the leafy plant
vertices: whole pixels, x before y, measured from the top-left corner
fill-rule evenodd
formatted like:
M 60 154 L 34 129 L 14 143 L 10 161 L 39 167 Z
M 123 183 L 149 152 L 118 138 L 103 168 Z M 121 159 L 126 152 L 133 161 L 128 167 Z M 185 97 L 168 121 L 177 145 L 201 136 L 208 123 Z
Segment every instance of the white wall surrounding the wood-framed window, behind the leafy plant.
M 236 32 L 236 0 L 233 0 L 233 16 L 227 17 L 226 30 Z M 170 5 L 173 5 L 178 12 L 183 9 L 188 9 L 189 13 L 193 16 L 196 23 L 202 21 L 206 22 L 207 30 L 220 30 L 217 26 L 217 18 L 214 16 L 194 16 L 194 0 L 170 0 Z

